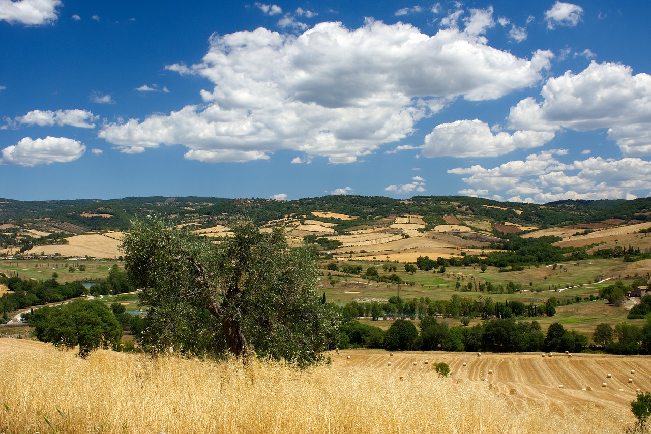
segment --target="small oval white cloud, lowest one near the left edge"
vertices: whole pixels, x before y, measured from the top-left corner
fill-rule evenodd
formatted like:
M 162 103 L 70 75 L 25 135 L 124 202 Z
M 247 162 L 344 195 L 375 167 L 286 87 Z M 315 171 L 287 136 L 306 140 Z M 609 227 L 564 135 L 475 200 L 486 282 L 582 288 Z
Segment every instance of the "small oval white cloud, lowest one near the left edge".
M 2 164 L 35 166 L 50 163 L 68 163 L 81 157 L 86 146 L 79 141 L 65 137 L 46 137 L 32 140 L 21 139 L 17 144 L 2 150 Z

